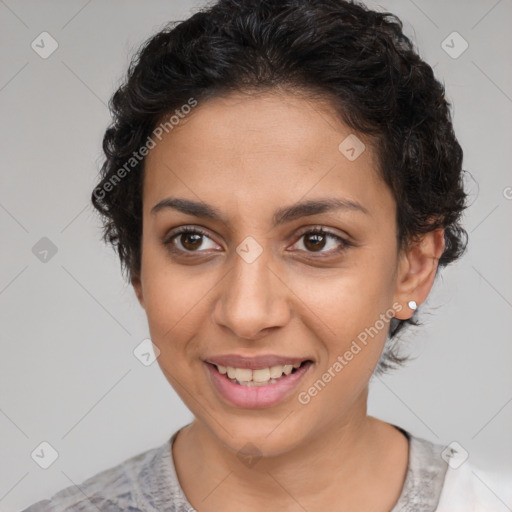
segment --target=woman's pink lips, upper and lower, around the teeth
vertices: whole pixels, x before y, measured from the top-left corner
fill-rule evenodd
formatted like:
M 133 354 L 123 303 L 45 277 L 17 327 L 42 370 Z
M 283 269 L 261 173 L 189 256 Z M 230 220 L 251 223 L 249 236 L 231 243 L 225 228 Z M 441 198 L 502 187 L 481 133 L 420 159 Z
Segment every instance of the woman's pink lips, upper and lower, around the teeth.
M 276 356 L 236 359 L 237 357 L 238 356 L 223 356 L 210 358 L 209 361 L 211 362 L 205 362 L 205 367 L 215 390 L 221 398 L 230 405 L 242 408 L 258 409 L 271 407 L 285 400 L 293 393 L 293 390 L 298 387 L 299 382 L 313 365 L 313 363 L 308 360 L 300 368 L 290 373 L 290 375 L 283 375 L 275 384 L 249 387 L 231 382 L 227 375 L 219 373 L 217 367 L 211 363 L 215 361 L 216 364 L 220 364 L 221 366 L 258 369 L 279 364 L 300 363 L 304 361 L 304 359 L 278 358 Z

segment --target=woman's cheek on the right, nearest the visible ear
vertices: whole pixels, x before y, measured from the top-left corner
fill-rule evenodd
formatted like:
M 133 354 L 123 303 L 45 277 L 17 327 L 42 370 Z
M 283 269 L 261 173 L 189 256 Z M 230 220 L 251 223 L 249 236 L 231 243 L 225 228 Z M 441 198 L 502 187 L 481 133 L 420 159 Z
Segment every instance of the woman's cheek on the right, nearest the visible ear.
M 302 275 L 291 288 L 305 298 L 299 316 L 320 341 L 325 400 L 345 402 L 367 384 L 381 356 L 394 311 L 393 248 L 359 251 L 344 268 Z M 309 320 L 308 320 L 309 319 Z M 321 389 L 323 384 L 319 383 Z M 315 390 L 313 390 L 315 393 Z M 355 395 L 354 395 L 355 393 Z

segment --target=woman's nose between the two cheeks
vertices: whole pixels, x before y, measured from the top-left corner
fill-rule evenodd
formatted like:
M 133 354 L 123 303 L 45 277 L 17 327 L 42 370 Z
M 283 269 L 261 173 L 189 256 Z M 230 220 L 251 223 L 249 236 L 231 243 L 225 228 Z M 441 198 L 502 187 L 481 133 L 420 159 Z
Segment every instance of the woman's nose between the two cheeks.
M 252 262 L 235 254 L 233 268 L 220 285 L 214 320 L 237 338 L 257 340 L 289 321 L 290 291 L 267 253 Z

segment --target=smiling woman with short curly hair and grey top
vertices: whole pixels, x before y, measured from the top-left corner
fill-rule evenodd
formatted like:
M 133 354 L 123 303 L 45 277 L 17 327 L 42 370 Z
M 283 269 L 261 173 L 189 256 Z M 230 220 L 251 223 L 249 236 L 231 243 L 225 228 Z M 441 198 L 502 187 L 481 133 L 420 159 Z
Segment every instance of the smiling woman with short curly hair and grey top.
M 466 243 L 449 104 L 401 22 L 220 0 L 111 105 L 92 201 L 194 420 L 27 510 L 482 510 L 468 462 L 367 414 Z

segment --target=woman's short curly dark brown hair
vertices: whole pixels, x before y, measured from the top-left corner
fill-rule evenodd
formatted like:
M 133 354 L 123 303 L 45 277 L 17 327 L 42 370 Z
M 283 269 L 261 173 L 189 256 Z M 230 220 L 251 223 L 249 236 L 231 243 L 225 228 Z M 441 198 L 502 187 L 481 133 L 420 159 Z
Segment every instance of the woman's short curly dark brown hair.
M 155 127 L 191 98 L 276 87 L 325 97 L 349 127 L 377 141 L 400 248 L 443 227 L 439 266 L 460 257 L 463 152 L 444 86 L 402 28 L 395 15 L 358 2 L 219 0 L 148 39 L 110 100 L 106 159 L 91 197 L 128 279 L 141 265 L 144 158 L 134 155 Z M 378 372 L 406 360 L 396 351 L 405 324 L 417 322 L 392 319 Z

